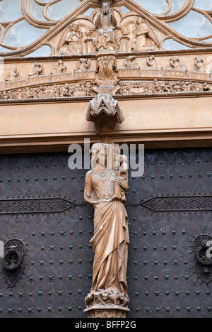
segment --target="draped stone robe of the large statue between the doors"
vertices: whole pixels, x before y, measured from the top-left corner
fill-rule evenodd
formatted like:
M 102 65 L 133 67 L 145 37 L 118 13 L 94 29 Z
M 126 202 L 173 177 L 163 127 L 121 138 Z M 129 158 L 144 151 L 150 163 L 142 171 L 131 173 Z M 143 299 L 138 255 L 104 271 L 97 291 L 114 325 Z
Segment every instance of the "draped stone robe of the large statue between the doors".
M 127 294 L 126 268 L 129 246 L 128 217 L 124 201 L 114 197 L 115 172 L 90 170 L 86 175 L 85 200 L 94 206 L 95 253 L 90 292 Z M 86 192 L 92 187 L 90 198 Z

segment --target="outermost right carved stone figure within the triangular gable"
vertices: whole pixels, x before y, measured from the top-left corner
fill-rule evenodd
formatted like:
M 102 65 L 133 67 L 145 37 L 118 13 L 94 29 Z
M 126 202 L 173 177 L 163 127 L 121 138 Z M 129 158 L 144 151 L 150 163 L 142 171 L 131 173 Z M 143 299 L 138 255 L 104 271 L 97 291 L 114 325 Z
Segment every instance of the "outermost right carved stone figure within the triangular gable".
M 158 45 L 158 38 L 156 37 L 150 24 L 139 17 L 135 20 L 135 39 L 133 40 L 134 45 L 132 50 L 135 52 L 150 51 L 154 50 L 155 46 L 148 46 L 147 37 L 151 38 L 156 45 Z

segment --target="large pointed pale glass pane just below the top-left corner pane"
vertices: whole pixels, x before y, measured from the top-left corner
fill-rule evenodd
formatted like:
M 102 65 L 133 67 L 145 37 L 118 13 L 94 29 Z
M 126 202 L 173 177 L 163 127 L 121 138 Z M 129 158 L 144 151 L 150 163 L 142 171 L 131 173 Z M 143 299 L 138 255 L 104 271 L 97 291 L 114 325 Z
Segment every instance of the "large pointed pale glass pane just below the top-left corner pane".
M 31 26 L 28 21 L 23 19 L 8 29 L 4 36 L 3 43 L 6 46 L 20 48 L 30 45 L 47 31 L 47 29 L 35 28 L 35 26 Z

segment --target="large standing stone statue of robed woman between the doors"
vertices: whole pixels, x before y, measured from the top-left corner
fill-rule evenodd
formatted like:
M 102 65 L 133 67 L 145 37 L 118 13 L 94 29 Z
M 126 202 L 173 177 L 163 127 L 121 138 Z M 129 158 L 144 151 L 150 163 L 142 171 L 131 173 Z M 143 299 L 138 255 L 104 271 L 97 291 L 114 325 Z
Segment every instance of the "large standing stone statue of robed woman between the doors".
M 90 240 L 95 258 L 93 284 L 86 297 L 87 306 L 95 304 L 114 306 L 129 302 L 126 267 L 129 246 L 128 217 L 124 207 L 125 196 L 115 196 L 115 185 L 125 193 L 127 179 L 116 177 L 107 169 L 108 145 L 96 143 L 91 148 L 91 167 L 86 175 L 84 199 L 92 204 L 94 236 Z

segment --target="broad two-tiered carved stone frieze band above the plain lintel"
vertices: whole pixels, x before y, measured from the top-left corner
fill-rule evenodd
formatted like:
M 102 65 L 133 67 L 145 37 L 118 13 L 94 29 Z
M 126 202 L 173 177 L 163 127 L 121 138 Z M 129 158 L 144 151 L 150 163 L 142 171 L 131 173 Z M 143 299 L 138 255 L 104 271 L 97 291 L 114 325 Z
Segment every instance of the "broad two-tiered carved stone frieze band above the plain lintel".
M 194 56 L 187 60 L 129 55 L 122 60 L 113 51 L 106 51 L 96 60 L 78 57 L 52 63 L 25 62 L 24 69 L 17 63 L 8 68 L 0 85 L 0 100 L 95 96 L 101 86 L 116 87 L 112 95 L 210 92 L 212 87 L 207 59 Z

